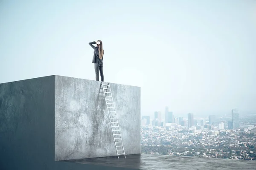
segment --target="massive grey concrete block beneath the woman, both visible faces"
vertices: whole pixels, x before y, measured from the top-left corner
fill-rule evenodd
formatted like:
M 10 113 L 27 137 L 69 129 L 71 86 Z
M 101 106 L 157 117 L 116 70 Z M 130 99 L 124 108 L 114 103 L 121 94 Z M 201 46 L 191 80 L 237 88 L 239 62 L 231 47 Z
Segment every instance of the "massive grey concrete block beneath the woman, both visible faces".
M 70 77 L 47 76 L 0 84 L 0 170 L 121 169 L 55 161 L 56 158 L 101 156 L 99 153 L 102 156 L 110 156 L 111 153 L 115 155 L 114 144 L 111 144 L 113 137 L 108 125 L 108 113 L 102 111 L 105 103 L 101 100 L 104 98 L 99 83 Z M 121 133 L 124 133 L 126 152 L 140 152 L 140 98 L 132 99 L 132 96 L 140 97 L 136 92 L 139 88 L 116 85 L 119 88 L 125 87 L 131 93 L 131 99 L 124 97 L 122 100 L 122 96 L 117 97 L 118 93 L 127 92 L 115 89 L 115 84 L 112 86 L 113 96 L 116 96 L 114 102 L 126 100 L 135 103 L 133 100 L 138 100 L 136 105 L 132 104 L 137 106 L 134 108 L 138 114 L 136 118 L 129 115 L 133 112 L 133 109 L 130 109 L 132 105 L 125 111 L 127 114 L 119 115 L 124 119 L 123 122 L 120 121 L 120 128 Z M 83 91 L 83 88 L 87 91 Z M 135 93 L 132 92 L 133 88 Z M 94 92 L 94 89 L 97 91 Z M 128 105 L 117 103 L 117 106 L 123 105 L 122 107 Z M 122 107 L 117 108 L 117 113 L 123 111 Z M 137 123 L 131 123 L 132 121 Z M 131 142 L 127 137 L 131 132 L 134 132 L 135 142 Z M 128 151 L 131 144 L 137 149 Z

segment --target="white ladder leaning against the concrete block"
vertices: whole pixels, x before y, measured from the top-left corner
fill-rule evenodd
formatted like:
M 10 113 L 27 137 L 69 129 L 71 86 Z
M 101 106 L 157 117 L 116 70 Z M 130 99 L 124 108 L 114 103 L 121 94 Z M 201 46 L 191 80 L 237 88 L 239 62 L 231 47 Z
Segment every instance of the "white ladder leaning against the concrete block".
M 115 147 L 116 147 L 116 154 L 117 154 L 117 158 L 119 159 L 119 155 L 125 156 L 125 149 L 124 149 L 124 146 L 122 143 L 122 136 L 120 133 L 119 124 L 118 124 L 117 117 L 116 117 L 116 109 L 115 109 L 114 102 L 113 102 L 111 88 L 110 88 L 109 83 L 103 84 L 101 82 L 101 84 L 102 84 L 102 88 L 103 88 L 103 92 L 104 92 L 104 96 L 105 96 L 105 102 L 106 102 L 106 105 L 108 108 L 108 116 L 109 116 L 109 120 L 110 120 L 110 124 L 111 124 Z M 104 86 L 107 86 L 107 87 L 104 88 Z M 126 158 L 126 156 L 125 156 L 125 158 Z

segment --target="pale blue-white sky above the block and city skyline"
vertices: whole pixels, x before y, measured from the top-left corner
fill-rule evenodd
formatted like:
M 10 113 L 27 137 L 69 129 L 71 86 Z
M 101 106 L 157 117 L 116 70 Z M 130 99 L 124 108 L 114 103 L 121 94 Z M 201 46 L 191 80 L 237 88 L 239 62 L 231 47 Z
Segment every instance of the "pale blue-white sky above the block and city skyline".
M 61 75 L 141 87 L 141 115 L 256 113 L 256 0 L 0 0 L 0 83 Z

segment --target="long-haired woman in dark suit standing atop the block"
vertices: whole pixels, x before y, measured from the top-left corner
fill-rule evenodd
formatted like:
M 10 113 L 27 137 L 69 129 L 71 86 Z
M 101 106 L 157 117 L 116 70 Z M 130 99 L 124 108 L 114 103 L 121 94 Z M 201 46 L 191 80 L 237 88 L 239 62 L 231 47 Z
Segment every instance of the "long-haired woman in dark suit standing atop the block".
M 96 44 L 97 46 L 95 47 L 93 44 Z M 96 81 L 99 81 L 99 73 L 100 73 L 101 81 L 104 82 L 104 75 L 103 75 L 104 50 L 102 48 L 103 47 L 102 41 L 97 40 L 97 41 L 89 42 L 89 45 L 94 49 L 92 63 L 94 63 Z

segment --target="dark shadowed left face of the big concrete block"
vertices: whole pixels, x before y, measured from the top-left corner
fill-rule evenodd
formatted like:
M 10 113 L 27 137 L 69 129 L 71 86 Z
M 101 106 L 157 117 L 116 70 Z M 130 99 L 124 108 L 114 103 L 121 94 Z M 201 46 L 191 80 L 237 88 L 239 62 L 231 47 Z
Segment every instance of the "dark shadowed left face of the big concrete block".
M 0 84 L 0 166 L 19 170 L 42 156 L 54 160 L 54 77 Z

